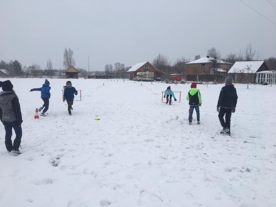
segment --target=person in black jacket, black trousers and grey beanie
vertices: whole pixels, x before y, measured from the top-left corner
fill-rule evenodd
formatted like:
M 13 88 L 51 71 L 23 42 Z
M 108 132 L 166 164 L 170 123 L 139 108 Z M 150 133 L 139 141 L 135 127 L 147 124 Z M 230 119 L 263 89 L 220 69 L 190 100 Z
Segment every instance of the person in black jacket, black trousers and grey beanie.
M 232 76 L 228 76 L 227 78 L 225 78 L 225 86 L 221 89 L 218 98 L 218 104 L 216 106 L 216 110 L 218 111 L 218 118 L 221 122 L 221 126 L 223 127 L 221 133 L 227 133 L 228 135 L 230 135 L 231 115 L 236 111 L 238 99 L 237 91 L 232 83 Z M 223 118 L 224 115 L 225 121 Z

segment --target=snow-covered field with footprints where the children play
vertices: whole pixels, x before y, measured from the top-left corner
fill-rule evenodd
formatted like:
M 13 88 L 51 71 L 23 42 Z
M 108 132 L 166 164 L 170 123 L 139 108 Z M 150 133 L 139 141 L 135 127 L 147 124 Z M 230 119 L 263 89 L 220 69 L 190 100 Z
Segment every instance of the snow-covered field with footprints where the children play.
M 276 205 L 275 85 L 235 84 L 227 136 L 216 111 L 223 84 L 198 85 L 201 124 L 189 125 L 190 84 L 170 84 L 182 94 L 169 106 L 161 101 L 169 84 L 72 79 L 82 101 L 69 116 L 62 101 L 68 79 L 48 79 L 47 117 L 34 119 L 43 101 L 29 90 L 44 79 L 10 80 L 22 110 L 22 154 L 6 152 L 1 125 L 1 207 Z

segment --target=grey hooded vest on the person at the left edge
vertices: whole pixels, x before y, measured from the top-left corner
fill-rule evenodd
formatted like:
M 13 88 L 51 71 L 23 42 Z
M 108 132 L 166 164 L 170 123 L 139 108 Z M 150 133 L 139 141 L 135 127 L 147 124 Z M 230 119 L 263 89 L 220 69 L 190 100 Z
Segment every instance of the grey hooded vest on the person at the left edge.
M 12 122 L 16 121 L 16 116 L 12 107 L 11 100 L 16 97 L 14 94 L 3 95 L 4 93 L 11 93 L 10 91 L 0 92 L 0 107 L 2 109 L 2 121 Z

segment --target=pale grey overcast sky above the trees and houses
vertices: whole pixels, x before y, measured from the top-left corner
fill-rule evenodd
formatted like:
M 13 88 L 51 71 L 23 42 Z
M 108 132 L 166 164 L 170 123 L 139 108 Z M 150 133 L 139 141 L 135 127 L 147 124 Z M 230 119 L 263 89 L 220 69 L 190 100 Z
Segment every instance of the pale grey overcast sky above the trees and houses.
M 276 22 L 266 0 L 243 1 Z M 239 0 L 0 0 L 0 20 L 0 60 L 27 67 L 45 69 L 50 58 L 63 69 L 65 47 L 78 68 L 88 70 L 89 55 L 90 71 L 152 62 L 158 53 L 171 64 L 182 56 L 192 61 L 211 47 L 225 57 L 248 43 L 260 59 L 276 57 L 276 25 Z

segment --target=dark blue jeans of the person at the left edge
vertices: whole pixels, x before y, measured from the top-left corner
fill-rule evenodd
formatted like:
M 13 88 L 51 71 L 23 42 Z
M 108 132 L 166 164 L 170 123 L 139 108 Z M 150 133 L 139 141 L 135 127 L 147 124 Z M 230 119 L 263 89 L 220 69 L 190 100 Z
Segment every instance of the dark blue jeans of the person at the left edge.
M 19 126 L 17 121 L 13 121 L 13 122 L 3 121 L 3 125 L 4 125 L 5 131 L 6 131 L 5 141 L 6 142 L 11 142 L 12 128 L 14 128 L 14 131 L 15 131 L 15 134 L 16 134 L 15 141 L 20 144 L 21 143 L 21 137 L 22 137 L 21 125 Z

